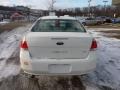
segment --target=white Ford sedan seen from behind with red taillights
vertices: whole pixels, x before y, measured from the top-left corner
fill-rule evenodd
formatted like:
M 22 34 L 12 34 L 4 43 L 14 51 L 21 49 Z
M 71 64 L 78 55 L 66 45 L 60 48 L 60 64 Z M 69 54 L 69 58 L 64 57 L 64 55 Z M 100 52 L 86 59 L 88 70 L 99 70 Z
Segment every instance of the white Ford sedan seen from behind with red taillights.
M 87 74 L 96 68 L 96 48 L 75 18 L 41 17 L 21 41 L 21 68 L 31 75 Z

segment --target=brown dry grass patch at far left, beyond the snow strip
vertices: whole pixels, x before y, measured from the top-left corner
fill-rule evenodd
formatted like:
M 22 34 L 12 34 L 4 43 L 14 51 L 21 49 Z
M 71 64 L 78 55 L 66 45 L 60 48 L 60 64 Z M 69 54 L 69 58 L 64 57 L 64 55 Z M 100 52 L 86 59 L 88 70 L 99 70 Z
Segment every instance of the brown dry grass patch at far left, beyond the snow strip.
M 17 27 L 25 26 L 25 25 L 27 25 L 26 22 L 11 22 L 11 23 L 7 23 L 5 25 L 0 25 L 0 33 L 3 31 L 10 31 Z

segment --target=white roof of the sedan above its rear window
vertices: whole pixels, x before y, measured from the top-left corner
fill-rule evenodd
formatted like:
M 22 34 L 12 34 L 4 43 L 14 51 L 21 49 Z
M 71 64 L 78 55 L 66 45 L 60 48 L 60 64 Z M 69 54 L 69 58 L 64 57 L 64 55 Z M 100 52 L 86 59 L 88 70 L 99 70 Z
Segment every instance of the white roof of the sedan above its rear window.
M 44 19 L 67 19 L 67 20 L 77 20 L 76 18 L 74 17 L 70 17 L 70 16 L 44 16 L 44 17 L 40 17 L 38 20 L 44 20 Z

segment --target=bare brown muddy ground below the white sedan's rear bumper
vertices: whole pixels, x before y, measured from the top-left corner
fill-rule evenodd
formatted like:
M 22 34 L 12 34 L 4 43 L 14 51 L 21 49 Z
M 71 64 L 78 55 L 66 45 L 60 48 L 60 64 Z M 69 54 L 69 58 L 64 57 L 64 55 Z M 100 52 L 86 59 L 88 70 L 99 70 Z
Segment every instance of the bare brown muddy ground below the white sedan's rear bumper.
M 17 75 L 1 82 L 0 90 L 86 90 L 78 77 L 48 77 L 28 78 Z

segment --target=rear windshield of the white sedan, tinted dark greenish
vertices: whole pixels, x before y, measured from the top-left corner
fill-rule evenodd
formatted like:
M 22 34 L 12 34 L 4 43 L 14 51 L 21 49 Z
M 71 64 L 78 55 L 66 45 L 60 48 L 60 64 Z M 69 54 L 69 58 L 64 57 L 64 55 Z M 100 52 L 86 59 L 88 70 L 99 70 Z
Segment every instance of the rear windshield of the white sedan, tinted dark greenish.
M 77 20 L 39 20 L 32 32 L 86 32 Z

